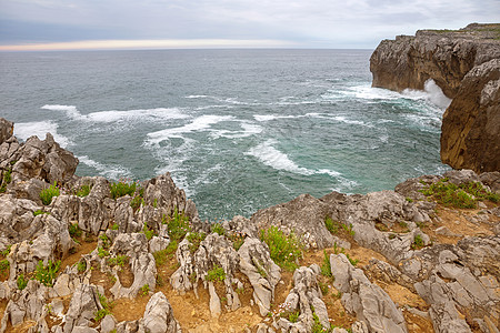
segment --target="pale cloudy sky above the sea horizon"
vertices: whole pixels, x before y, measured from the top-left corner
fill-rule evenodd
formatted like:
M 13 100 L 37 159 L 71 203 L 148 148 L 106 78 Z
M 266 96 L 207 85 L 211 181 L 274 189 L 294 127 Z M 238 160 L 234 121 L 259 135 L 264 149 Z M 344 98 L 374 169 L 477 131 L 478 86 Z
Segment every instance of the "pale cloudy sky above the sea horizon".
M 500 21 L 500 0 L 0 0 L 0 51 L 374 49 Z

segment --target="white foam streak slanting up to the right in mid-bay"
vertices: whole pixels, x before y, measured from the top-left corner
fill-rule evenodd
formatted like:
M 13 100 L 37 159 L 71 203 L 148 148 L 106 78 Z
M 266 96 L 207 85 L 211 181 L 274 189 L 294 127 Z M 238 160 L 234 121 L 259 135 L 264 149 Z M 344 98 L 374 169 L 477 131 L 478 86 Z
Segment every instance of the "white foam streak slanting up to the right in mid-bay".
M 232 119 L 233 119 L 232 115 L 214 115 L 214 114 L 200 115 L 196 118 L 192 122 L 183 127 L 164 129 L 161 131 L 148 133 L 148 142 L 158 144 L 170 138 L 182 138 L 182 134 L 184 133 L 206 131 L 210 129 L 212 124 L 222 121 L 230 121 Z

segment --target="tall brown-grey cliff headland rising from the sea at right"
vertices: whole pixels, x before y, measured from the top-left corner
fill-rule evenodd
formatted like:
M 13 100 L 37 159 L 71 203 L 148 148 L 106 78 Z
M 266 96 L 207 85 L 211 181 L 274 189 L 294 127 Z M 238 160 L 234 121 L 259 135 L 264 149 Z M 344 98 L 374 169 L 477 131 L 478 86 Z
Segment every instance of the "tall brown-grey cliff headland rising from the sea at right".
M 454 169 L 500 170 L 500 24 L 420 30 L 384 40 L 370 59 L 373 87 L 423 89 L 453 99 L 443 114 L 441 160 Z

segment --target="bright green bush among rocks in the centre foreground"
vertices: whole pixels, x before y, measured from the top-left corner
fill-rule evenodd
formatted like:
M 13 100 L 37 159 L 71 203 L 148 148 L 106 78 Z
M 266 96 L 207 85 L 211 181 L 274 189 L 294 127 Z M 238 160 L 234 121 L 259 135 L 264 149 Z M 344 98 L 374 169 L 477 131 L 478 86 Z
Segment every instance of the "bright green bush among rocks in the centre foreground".
M 298 268 L 297 260 L 302 258 L 302 244 L 293 233 L 287 235 L 278 226 L 271 225 L 260 231 L 260 240 L 268 244 L 271 259 L 278 265 L 289 271 Z

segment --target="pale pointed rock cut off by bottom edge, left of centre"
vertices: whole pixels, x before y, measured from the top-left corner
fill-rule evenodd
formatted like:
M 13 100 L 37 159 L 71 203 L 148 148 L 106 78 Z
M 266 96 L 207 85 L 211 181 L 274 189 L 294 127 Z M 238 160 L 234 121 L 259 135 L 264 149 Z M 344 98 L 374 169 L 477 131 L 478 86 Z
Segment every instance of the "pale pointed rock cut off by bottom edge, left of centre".
M 162 292 L 151 296 L 139 326 L 139 331 L 150 333 L 181 332 L 178 321 L 173 317 L 172 306 Z

